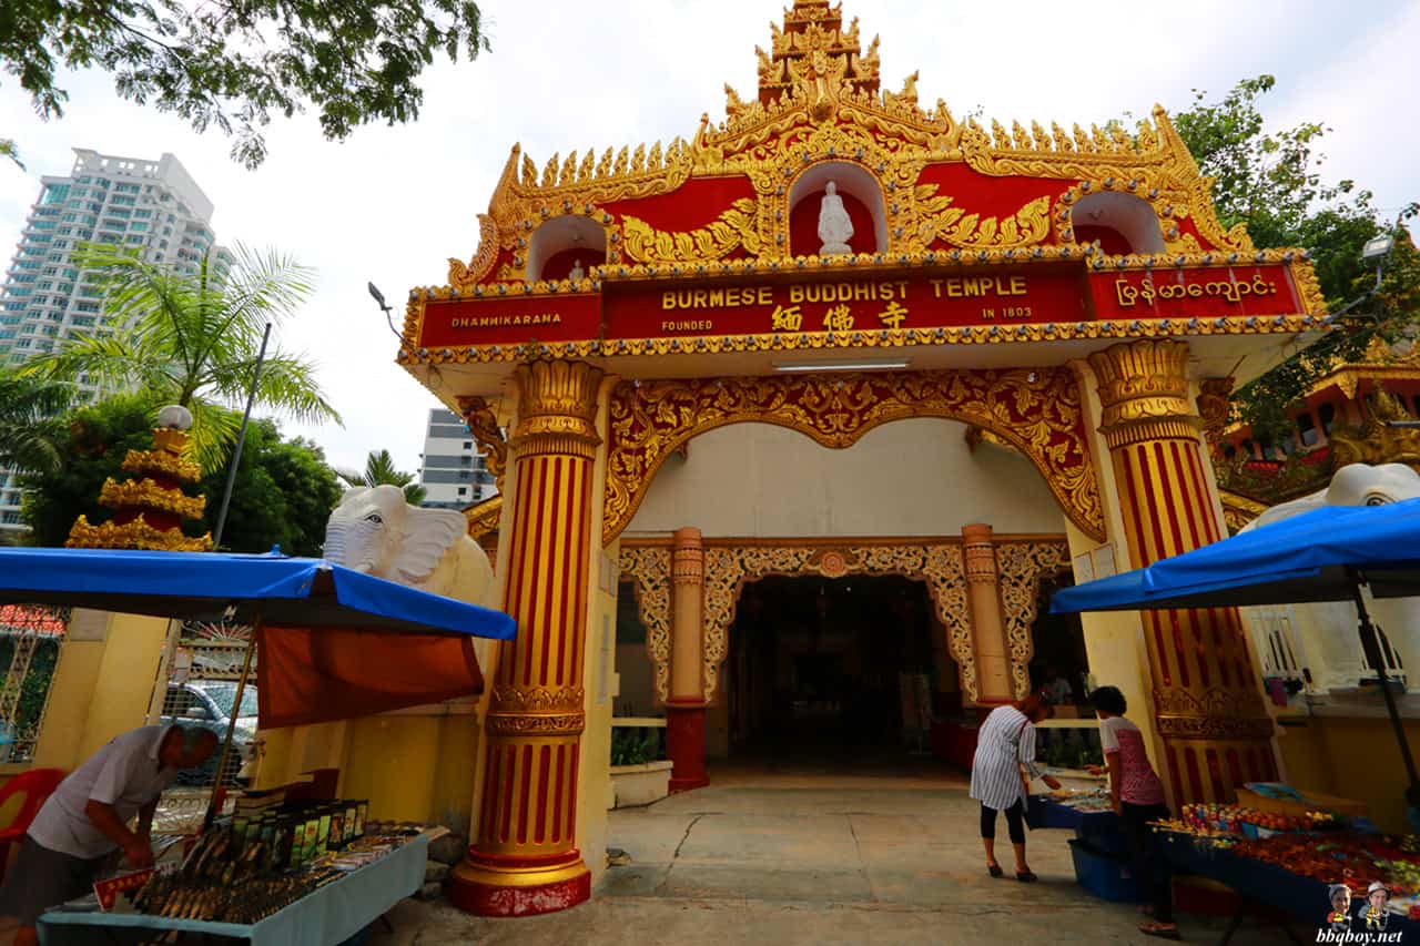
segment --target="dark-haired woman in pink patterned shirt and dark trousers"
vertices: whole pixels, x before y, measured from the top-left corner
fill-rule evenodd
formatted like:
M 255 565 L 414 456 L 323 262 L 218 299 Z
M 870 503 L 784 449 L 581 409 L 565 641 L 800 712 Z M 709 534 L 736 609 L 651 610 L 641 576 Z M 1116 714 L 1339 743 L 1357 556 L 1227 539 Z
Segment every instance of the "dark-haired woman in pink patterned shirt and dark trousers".
M 1154 844 L 1150 822 L 1169 817 L 1163 798 L 1163 783 L 1149 764 L 1143 733 L 1125 719 L 1125 695 L 1115 686 L 1102 686 L 1089 695 L 1099 716 L 1099 744 L 1105 750 L 1109 770 L 1109 797 L 1115 814 L 1125 822 L 1129 851 L 1133 855 L 1133 875 L 1139 892 L 1150 898 L 1153 920 L 1139 928 L 1146 936 L 1179 939 L 1179 925 L 1173 922 L 1173 878 L 1169 861 Z

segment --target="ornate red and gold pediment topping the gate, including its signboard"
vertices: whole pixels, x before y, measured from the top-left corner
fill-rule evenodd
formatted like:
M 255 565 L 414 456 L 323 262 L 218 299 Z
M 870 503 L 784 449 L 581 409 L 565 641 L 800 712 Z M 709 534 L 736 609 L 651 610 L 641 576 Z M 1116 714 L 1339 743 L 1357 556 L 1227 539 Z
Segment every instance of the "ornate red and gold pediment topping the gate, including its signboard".
M 757 50 L 757 94 L 727 87 L 689 139 L 542 162 L 514 145 L 477 253 L 410 293 L 399 361 L 1295 334 L 1323 315 L 1305 253 L 1220 224 L 1162 108 L 1133 128 L 983 124 L 924 109 L 916 72 L 885 85 L 878 51 L 841 4 L 799 0 Z M 835 244 L 831 192 L 851 222 Z

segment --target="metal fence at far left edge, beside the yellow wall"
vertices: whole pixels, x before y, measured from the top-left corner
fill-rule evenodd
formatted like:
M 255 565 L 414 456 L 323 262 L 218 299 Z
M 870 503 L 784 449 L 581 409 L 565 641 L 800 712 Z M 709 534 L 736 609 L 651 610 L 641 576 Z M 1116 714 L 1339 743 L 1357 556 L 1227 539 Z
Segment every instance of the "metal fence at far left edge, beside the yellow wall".
M 27 763 L 50 705 L 67 609 L 0 605 L 0 763 Z

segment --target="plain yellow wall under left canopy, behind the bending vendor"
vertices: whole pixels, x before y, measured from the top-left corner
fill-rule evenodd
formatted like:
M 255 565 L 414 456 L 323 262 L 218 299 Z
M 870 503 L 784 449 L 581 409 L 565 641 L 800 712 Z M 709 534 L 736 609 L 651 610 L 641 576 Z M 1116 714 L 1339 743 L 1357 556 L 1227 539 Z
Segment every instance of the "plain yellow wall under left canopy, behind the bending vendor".
M 70 628 L 34 749 L 36 768 L 74 770 L 108 740 L 142 726 L 168 639 L 165 618 L 129 614 L 77 611 Z

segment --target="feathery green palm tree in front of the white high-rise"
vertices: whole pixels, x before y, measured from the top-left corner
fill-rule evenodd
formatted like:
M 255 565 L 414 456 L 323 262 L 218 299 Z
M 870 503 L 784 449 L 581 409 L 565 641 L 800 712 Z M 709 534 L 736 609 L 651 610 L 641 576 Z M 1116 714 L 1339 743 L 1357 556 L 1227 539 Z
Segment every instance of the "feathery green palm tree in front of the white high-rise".
M 312 271 L 274 250 L 240 246 L 222 273 L 210 253 L 196 273 L 179 273 L 105 247 L 87 249 L 80 266 L 105 293 L 106 324 L 71 335 L 21 371 L 57 381 L 87 376 L 104 391 L 138 389 L 159 405 L 187 408 L 193 459 L 219 467 L 241 423 L 233 408 L 247 398 L 266 324 L 305 301 Z M 315 366 L 280 351 L 268 351 L 261 365 L 256 406 L 339 423 Z

